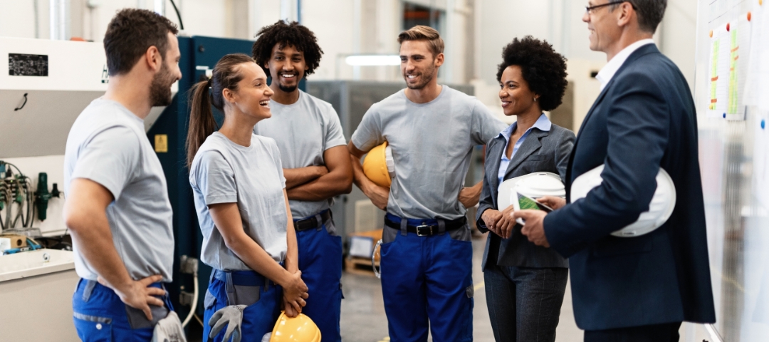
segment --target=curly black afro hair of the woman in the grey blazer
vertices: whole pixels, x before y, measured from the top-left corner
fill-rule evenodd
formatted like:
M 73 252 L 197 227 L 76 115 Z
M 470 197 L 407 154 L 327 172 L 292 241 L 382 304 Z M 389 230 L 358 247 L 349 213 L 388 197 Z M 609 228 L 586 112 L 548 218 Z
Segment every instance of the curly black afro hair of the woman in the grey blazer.
M 534 39 L 531 35 L 513 42 L 502 49 L 502 62 L 498 65 L 497 81 L 510 65 L 518 65 L 529 89 L 539 94 L 539 105 L 544 111 L 561 106 L 566 92 L 566 58 L 555 52 L 553 45 Z

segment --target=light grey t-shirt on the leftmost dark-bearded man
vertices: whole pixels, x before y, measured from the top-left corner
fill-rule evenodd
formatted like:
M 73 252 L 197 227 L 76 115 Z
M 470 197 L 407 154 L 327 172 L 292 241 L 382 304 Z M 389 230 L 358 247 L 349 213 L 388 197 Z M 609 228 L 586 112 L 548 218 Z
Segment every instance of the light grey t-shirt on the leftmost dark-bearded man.
M 115 250 L 128 274 L 139 280 L 161 274 L 171 281 L 174 233 L 165 175 L 147 139 L 144 121 L 118 102 L 95 99 L 69 130 L 64 156 L 64 193 L 72 179 L 90 179 L 112 193 L 107 219 Z M 75 245 L 78 276 L 98 274 Z

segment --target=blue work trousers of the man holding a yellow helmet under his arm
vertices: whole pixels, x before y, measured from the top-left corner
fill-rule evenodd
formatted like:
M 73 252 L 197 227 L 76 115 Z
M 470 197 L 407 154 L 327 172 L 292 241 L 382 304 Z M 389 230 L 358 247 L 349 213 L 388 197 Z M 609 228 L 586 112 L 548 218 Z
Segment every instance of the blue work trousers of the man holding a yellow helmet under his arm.
M 408 226 L 444 226 L 444 220 L 401 220 L 395 240 L 381 245 L 384 312 L 393 342 L 471 341 L 473 334 L 472 243 L 441 229 L 429 236 Z M 387 229 L 387 228 L 385 228 Z M 467 230 L 466 223 L 459 229 Z

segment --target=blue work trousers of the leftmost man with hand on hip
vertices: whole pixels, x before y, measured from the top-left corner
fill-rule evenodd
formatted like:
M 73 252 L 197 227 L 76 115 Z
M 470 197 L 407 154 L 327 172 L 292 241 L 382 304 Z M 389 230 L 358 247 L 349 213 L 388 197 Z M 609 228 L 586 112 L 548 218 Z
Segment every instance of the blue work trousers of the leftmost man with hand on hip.
M 150 287 L 165 289 L 162 283 Z M 128 307 L 114 290 L 95 280 L 81 279 L 72 295 L 72 319 L 78 337 L 84 342 L 102 341 L 143 341 L 152 340 L 155 324 L 174 310 L 168 293 L 159 297 L 165 307 L 150 305 L 152 320 L 147 320 L 144 311 Z

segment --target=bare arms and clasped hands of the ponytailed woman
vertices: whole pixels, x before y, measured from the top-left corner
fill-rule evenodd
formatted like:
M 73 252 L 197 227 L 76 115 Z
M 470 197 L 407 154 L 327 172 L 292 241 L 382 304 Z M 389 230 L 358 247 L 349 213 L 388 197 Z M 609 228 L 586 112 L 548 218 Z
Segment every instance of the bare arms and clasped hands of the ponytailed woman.
M 251 239 L 251 236 L 245 233 L 238 203 L 211 204 L 208 206 L 208 211 L 211 213 L 216 229 L 224 238 L 227 248 L 235 253 L 240 260 L 243 260 L 248 267 L 251 267 L 251 270 L 255 270 L 256 273 L 283 287 L 288 302 L 295 310 L 301 311 L 301 307 L 305 306 L 305 298 L 308 297 L 307 285 L 301 280 L 301 272 L 291 273 L 285 270 L 270 257 L 264 248 L 261 248 L 256 241 Z M 288 215 L 290 218 L 291 213 Z M 294 227 L 291 220 L 289 220 L 289 226 L 291 226 L 291 235 L 288 232 L 286 235 L 293 236 L 294 253 L 296 253 L 296 236 L 293 234 Z M 286 259 L 288 260 L 288 255 Z

